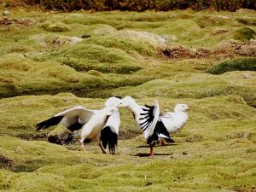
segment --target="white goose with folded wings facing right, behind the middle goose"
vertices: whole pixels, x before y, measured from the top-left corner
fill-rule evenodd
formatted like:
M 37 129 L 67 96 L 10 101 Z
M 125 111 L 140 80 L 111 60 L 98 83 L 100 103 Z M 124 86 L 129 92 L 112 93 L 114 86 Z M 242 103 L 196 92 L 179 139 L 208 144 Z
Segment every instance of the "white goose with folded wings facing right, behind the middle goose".
M 166 130 L 172 134 L 180 131 L 189 119 L 189 107 L 186 104 L 177 104 L 174 108 L 174 112 L 167 112 L 160 116 L 162 125 L 166 127 Z M 164 141 L 161 141 L 164 145 Z

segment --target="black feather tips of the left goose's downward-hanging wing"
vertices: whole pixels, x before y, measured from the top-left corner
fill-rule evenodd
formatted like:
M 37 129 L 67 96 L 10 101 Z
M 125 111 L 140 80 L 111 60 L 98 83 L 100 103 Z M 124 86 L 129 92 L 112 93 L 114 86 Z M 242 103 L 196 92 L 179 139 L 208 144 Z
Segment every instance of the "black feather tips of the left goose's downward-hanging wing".
M 107 148 L 110 154 L 115 154 L 115 147 L 118 143 L 118 135 L 111 130 L 110 126 L 106 126 L 101 131 L 101 140 L 103 148 Z

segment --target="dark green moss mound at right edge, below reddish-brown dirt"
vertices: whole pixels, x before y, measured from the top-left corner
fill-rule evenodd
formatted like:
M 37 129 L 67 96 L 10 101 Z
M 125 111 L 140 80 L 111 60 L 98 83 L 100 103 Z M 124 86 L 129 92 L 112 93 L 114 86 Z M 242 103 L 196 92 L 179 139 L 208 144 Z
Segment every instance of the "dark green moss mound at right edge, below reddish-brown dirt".
M 240 58 L 232 61 L 224 61 L 206 70 L 207 73 L 211 74 L 222 74 L 232 71 L 256 71 L 256 58 Z

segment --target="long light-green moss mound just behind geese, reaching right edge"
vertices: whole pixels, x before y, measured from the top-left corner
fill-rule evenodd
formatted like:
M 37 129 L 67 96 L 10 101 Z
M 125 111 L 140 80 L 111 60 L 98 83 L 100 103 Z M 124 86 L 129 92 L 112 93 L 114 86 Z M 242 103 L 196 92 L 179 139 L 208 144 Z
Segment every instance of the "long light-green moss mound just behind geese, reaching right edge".
M 254 72 L 230 72 L 220 76 L 211 74 L 184 73 L 166 79 L 157 79 L 135 88 L 117 90 L 117 94 L 144 96 L 164 96 L 175 98 L 203 98 L 208 96 L 242 96 L 255 106 Z

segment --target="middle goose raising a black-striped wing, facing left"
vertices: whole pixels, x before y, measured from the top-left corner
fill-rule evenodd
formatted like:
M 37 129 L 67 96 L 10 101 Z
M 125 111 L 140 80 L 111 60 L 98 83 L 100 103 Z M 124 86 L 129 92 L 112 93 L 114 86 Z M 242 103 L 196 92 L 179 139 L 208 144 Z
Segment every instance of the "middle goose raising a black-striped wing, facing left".
M 160 108 L 155 100 L 153 106 L 140 106 L 131 96 L 125 96 L 124 106 L 127 106 L 133 113 L 137 125 L 143 130 L 143 136 L 147 139 L 150 147 L 150 156 L 154 156 L 153 147 L 158 143 L 160 137 L 167 142 L 172 143 L 168 131 L 164 126 L 159 126 Z

